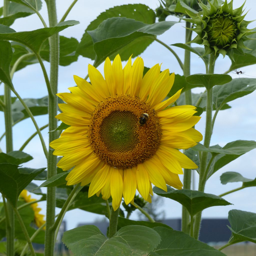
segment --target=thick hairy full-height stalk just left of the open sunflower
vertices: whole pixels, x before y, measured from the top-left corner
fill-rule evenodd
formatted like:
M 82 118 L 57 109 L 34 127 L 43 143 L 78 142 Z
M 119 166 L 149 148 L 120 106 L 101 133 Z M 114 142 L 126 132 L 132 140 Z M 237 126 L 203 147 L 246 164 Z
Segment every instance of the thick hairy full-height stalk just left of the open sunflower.
M 46 1 L 49 26 L 57 25 L 57 13 L 55 0 Z M 57 93 L 58 84 L 58 65 L 59 65 L 59 34 L 50 37 L 50 86 L 51 91 L 55 95 Z M 55 130 L 57 127 L 57 97 L 49 97 L 49 131 Z M 49 142 L 57 139 L 57 132 L 49 133 Z M 57 156 L 52 155 L 49 148 L 47 179 L 57 174 Z M 56 206 L 56 187 L 47 188 L 46 199 L 46 232 L 45 232 L 45 256 L 53 256 L 54 254 L 54 235 L 53 229 L 55 222 L 55 206 Z

